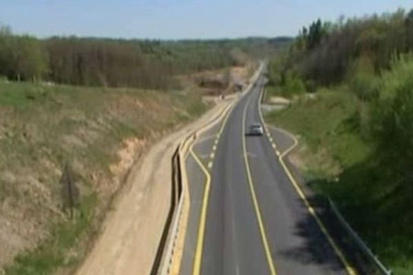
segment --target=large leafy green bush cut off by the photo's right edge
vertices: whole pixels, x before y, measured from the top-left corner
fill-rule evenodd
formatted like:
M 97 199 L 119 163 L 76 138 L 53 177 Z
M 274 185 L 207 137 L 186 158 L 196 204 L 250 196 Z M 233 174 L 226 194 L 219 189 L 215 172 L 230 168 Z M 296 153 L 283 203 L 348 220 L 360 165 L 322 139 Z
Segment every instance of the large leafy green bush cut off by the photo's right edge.
M 401 173 L 413 164 L 413 56 L 392 63 L 381 79 L 381 94 L 374 104 L 374 130 L 386 155 Z M 389 142 L 391 149 L 389 150 Z

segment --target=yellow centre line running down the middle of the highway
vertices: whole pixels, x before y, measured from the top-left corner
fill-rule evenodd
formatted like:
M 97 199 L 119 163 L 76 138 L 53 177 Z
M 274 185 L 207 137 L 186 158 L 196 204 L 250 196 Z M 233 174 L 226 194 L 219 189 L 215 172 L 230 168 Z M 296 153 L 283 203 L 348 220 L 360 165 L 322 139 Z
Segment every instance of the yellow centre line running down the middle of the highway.
M 242 115 L 242 147 L 244 149 L 244 162 L 245 162 L 245 168 L 246 168 L 246 175 L 248 177 L 248 184 L 251 190 L 251 197 L 253 198 L 253 204 L 255 208 L 255 214 L 257 214 L 257 220 L 258 220 L 258 225 L 260 228 L 260 233 L 261 233 L 261 239 L 262 242 L 264 243 L 264 250 L 266 254 L 266 259 L 268 261 L 268 266 L 270 268 L 271 275 L 277 275 L 277 272 L 275 272 L 275 267 L 273 263 L 273 257 L 271 256 L 271 250 L 270 250 L 270 245 L 268 245 L 267 237 L 266 237 L 266 232 L 264 228 L 264 221 L 262 221 L 261 217 L 261 211 L 260 211 L 260 206 L 258 205 L 257 201 L 257 196 L 255 195 L 255 189 L 254 189 L 254 184 L 253 184 L 253 178 L 251 177 L 251 170 L 249 167 L 248 163 L 248 157 L 247 157 L 247 152 L 246 152 L 246 141 L 245 141 L 245 116 L 246 116 L 246 109 L 248 108 L 248 104 L 251 101 L 251 97 L 248 99 L 248 102 L 246 102 L 245 107 L 244 107 L 244 113 Z

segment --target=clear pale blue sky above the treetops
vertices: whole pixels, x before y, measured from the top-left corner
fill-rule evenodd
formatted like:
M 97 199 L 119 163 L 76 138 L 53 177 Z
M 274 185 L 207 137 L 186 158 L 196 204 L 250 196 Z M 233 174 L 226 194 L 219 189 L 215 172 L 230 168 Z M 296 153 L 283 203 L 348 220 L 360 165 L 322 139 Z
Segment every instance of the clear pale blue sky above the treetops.
M 410 10 L 412 0 L 0 0 L 0 23 L 39 37 L 295 36 L 313 20 Z

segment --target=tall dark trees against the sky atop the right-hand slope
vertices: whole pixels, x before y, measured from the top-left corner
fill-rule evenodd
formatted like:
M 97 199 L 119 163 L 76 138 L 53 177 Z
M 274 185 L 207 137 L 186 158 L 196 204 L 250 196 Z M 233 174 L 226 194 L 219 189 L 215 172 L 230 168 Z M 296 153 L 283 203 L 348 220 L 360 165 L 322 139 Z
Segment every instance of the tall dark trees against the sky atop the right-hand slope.
M 299 77 L 306 90 L 340 83 L 357 67 L 379 74 L 393 58 L 413 50 L 413 10 L 392 14 L 317 21 L 300 30 L 288 54 L 273 64 L 283 85 Z M 277 74 L 277 73 L 276 73 Z

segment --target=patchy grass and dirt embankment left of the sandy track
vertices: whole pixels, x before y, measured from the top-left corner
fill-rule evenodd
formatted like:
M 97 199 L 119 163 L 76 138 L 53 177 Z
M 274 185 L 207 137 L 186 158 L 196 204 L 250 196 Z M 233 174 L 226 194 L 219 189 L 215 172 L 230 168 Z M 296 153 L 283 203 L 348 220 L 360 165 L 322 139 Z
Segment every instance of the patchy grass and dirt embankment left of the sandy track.
M 75 266 L 131 165 L 205 108 L 195 93 L 0 83 L 0 274 Z M 80 194 L 73 219 L 65 164 Z

